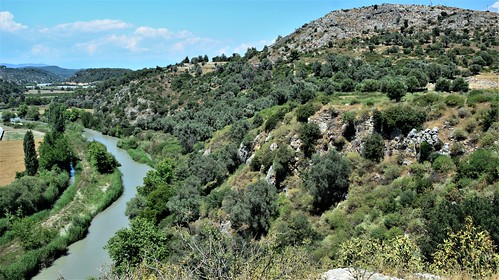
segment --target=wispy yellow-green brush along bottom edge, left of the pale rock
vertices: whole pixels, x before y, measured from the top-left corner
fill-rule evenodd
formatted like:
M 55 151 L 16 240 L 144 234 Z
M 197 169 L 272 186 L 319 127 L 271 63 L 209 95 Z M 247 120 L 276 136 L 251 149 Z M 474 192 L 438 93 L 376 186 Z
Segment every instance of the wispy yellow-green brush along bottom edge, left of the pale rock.
M 211 227 L 203 227 L 193 235 L 181 233 L 174 240 L 170 246 L 176 260 L 162 262 L 148 253 L 142 254 L 144 261 L 131 268 L 131 277 L 277 280 L 312 279 L 320 273 L 318 262 L 301 247 L 276 249 L 270 244 L 249 242 Z M 104 279 L 115 277 L 120 277 L 117 271 L 103 276 Z

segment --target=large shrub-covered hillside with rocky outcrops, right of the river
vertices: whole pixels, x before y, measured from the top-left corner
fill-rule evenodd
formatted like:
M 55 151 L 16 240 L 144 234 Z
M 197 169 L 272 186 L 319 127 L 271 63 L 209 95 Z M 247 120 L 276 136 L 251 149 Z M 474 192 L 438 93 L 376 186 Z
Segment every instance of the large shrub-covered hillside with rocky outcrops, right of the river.
M 83 124 L 155 167 L 108 243 L 112 273 L 497 277 L 497 20 L 335 11 L 261 51 L 79 91 Z

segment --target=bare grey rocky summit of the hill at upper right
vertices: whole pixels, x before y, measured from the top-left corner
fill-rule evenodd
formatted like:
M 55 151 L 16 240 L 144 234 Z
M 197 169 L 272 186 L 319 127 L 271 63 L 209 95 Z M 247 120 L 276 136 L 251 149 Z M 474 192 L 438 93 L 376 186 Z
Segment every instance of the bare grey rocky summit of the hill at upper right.
M 330 12 L 277 40 L 274 49 L 309 51 L 338 40 L 385 30 L 414 32 L 435 27 L 457 33 L 497 29 L 499 14 L 447 6 L 382 4 Z

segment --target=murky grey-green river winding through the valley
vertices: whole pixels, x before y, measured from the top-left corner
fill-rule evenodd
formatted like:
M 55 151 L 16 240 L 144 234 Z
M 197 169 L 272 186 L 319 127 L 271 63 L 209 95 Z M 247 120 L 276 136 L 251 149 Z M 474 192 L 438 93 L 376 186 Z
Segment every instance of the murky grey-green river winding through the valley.
M 69 246 L 67 255 L 58 258 L 33 279 L 57 279 L 60 276 L 65 279 L 87 279 L 99 276 L 101 270 L 109 269 L 111 259 L 103 247 L 116 231 L 128 226 L 126 203 L 135 196 L 137 186 L 142 184 L 144 176 L 151 169 L 135 162 L 125 150 L 116 147 L 118 138 L 87 129 L 83 136 L 89 141 L 96 140 L 104 144 L 121 164 L 119 169 L 123 174 L 123 195 L 92 220 L 88 235 Z

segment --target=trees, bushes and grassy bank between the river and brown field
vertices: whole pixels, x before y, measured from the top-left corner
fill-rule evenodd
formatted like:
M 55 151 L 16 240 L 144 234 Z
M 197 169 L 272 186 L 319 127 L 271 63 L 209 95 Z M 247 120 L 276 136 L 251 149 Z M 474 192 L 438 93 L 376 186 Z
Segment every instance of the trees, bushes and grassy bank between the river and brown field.
M 49 132 L 39 158 L 28 131 L 26 171 L 0 188 L 0 279 L 26 279 L 49 265 L 83 238 L 92 218 L 123 191 L 114 157 L 102 144 L 87 143 L 81 125 L 67 127 L 70 116 L 60 104 L 49 106 L 43 116 Z M 68 185 L 71 164 L 77 172 Z

